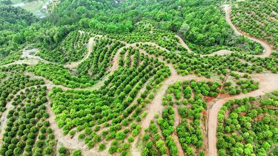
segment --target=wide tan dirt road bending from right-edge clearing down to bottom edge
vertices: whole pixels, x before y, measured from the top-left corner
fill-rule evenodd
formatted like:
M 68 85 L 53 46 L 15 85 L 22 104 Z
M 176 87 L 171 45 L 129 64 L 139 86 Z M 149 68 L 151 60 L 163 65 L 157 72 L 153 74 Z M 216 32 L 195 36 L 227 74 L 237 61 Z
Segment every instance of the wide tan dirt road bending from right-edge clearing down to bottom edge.
M 241 99 L 244 97 L 249 96 L 259 96 L 264 95 L 267 92 L 272 92 L 274 90 L 278 89 L 277 84 L 278 82 L 278 75 L 267 73 L 267 74 L 252 74 L 253 78 L 258 79 L 260 82 L 259 89 L 249 92 L 247 94 L 239 94 L 232 97 L 228 97 L 225 99 L 217 99 L 217 101 L 211 102 L 208 110 L 208 152 L 209 155 L 217 155 L 217 148 L 216 148 L 216 131 L 217 131 L 217 116 L 218 111 L 221 109 L 221 107 L 224 105 L 225 102 L 232 100 L 232 99 Z

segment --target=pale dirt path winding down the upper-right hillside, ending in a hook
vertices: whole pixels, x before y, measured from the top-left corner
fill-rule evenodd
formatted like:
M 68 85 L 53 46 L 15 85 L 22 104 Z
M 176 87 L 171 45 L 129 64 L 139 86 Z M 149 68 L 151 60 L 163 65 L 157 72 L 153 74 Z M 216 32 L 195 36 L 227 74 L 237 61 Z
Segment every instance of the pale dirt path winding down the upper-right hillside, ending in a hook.
M 262 41 L 262 40 L 258 40 L 257 38 L 249 35 L 248 33 L 246 32 L 242 32 L 242 31 L 239 31 L 232 23 L 231 21 L 231 12 L 232 12 L 232 9 L 231 9 L 231 5 L 224 5 L 224 10 L 226 12 L 226 16 L 225 16 L 225 19 L 226 21 L 230 24 L 230 26 L 234 29 L 235 33 L 236 34 L 241 34 L 241 35 L 244 35 L 246 37 L 248 37 L 250 40 L 252 41 L 255 41 L 257 43 L 259 43 L 260 45 L 262 45 L 265 49 L 264 53 L 262 55 L 253 55 L 253 56 L 258 56 L 258 57 L 268 57 L 269 55 L 271 55 L 271 52 L 273 51 L 273 49 L 268 45 L 267 42 L 265 41 Z

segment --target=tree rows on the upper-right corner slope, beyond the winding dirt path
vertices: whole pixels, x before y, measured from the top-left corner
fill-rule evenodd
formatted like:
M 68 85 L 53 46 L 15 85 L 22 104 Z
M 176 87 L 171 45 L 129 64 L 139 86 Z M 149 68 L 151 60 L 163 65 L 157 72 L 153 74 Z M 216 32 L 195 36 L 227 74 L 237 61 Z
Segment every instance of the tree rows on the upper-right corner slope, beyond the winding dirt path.
M 242 1 L 232 7 L 232 22 L 242 31 L 278 49 L 278 15 L 275 1 Z

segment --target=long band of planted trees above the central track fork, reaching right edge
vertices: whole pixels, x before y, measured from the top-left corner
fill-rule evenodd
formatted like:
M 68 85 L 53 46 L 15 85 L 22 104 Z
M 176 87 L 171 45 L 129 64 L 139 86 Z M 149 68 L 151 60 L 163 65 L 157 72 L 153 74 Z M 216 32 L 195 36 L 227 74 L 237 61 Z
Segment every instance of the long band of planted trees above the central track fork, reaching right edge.
M 162 56 L 163 60 L 173 64 L 179 74 L 197 74 L 198 76 L 205 76 L 210 78 L 213 74 L 227 75 L 229 71 L 247 72 L 253 73 L 254 71 L 260 73 L 263 68 L 277 72 L 278 59 L 276 53 L 273 56 L 267 58 L 260 58 L 249 56 L 241 53 L 231 53 L 224 57 L 220 55 L 204 56 L 188 53 L 183 47 L 179 47 L 179 53 L 166 51 L 155 48 L 154 46 L 143 44 L 143 48 L 149 54 L 155 56 Z M 246 62 L 242 61 L 245 59 Z M 248 64 L 247 62 L 253 62 L 259 60 L 257 64 Z

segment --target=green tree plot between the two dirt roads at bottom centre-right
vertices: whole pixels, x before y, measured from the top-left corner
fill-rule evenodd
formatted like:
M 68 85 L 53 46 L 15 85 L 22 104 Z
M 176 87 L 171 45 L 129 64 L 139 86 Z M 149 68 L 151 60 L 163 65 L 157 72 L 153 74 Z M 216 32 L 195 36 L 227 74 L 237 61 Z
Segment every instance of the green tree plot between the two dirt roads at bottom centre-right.
M 142 136 L 142 155 L 178 155 L 177 144 L 185 155 L 205 155 L 206 102 L 208 97 L 218 96 L 220 86 L 217 82 L 194 80 L 170 85 L 162 101 L 165 106 L 162 118 L 157 119 L 159 114 L 156 114 Z M 174 139 L 175 135 L 178 139 Z

